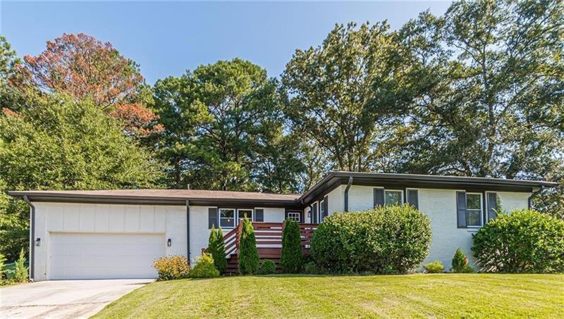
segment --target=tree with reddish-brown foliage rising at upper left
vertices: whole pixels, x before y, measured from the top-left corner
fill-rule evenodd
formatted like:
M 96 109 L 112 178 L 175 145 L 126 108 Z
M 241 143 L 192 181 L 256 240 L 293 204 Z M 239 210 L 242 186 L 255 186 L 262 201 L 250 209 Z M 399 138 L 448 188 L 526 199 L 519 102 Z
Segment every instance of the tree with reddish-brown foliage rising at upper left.
M 42 92 L 91 99 L 107 113 L 120 118 L 130 133 L 146 134 L 155 115 L 143 105 L 147 86 L 139 65 L 123 57 L 109 42 L 79 33 L 63 34 L 47 42 L 38 56 L 25 56 L 24 85 Z M 159 127 L 152 127 L 159 130 Z

